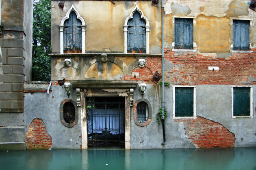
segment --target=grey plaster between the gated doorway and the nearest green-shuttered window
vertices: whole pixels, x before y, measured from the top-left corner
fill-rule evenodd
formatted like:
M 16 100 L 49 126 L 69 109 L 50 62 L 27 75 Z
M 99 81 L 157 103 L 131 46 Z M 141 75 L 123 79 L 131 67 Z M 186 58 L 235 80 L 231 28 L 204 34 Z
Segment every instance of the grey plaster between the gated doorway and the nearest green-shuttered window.
M 165 119 L 166 142 L 163 143 L 162 124 L 158 125 L 156 113 L 161 107 L 161 87 L 159 85 L 147 85 L 145 94 L 142 95 L 137 87 L 134 91 L 134 101 L 145 98 L 152 105 L 152 120 L 144 126 L 138 126 L 135 121 L 130 121 L 130 144 L 131 149 L 153 149 L 153 148 L 195 148 L 195 145 L 185 136 L 184 125 L 174 123 L 172 118 L 172 88 L 165 87 L 165 108 L 167 118 Z M 131 109 L 132 110 L 132 109 Z

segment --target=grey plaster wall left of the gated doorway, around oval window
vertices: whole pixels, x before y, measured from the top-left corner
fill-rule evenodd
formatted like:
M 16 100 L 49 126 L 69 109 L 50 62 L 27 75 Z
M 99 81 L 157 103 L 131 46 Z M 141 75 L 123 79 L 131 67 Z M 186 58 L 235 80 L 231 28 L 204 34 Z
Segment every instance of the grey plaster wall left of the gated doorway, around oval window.
M 46 131 L 52 137 L 52 148 L 79 149 L 81 142 L 81 115 L 78 107 L 78 123 L 74 127 L 65 127 L 60 120 L 60 104 L 67 99 L 62 86 L 52 86 L 52 92 L 24 93 L 25 134 L 35 118 L 42 119 Z M 76 101 L 76 91 L 72 90 L 69 98 Z

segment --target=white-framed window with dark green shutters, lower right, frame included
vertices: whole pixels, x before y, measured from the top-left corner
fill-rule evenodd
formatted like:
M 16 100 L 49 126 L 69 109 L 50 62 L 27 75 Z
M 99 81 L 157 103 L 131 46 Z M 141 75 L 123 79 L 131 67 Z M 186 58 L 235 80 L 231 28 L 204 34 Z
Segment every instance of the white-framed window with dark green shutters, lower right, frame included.
M 252 117 L 252 87 L 232 87 L 232 117 Z

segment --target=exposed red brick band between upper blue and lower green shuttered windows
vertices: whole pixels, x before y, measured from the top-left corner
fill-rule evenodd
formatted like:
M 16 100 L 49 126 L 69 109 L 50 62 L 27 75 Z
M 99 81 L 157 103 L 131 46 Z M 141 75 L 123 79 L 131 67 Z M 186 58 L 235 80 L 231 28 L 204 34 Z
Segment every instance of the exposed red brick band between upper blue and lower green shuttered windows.
M 231 53 L 230 57 L 218 58 L 216 53 L 176 52 L 165 49 L 165 59 L 174 64 L 173 68 L 165 72 L 165 81 L 174 85 L 256 84 L 256 51 Z M 218 66 L 219 70 L 208 70 L 208 66 Z M 250 76 L 254 77 L 253 81 L 249 80 Z

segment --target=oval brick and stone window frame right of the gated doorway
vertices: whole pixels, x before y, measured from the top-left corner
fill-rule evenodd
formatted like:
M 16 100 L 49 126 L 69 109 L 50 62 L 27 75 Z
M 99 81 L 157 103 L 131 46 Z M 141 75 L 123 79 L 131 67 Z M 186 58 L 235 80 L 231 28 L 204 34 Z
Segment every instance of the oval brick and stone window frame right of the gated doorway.
M 137 119 L 137 104 L 139 102 L 146 102 L 148 104 L 148 120 L 143 123 L 140 123 Z M 138 126 L 144 127 L 150 123 L 151 119 L 152 119 L 152 106 L 150 104 L 150 101 L 148 101 L 147 99 L 144 99 L 144 98 L 136 100 L 136 102 L 133 104 L 133 120 L 134 120 L 135 124 Z

